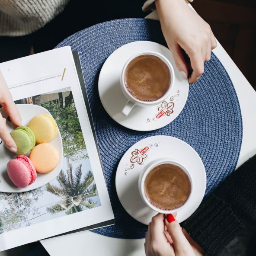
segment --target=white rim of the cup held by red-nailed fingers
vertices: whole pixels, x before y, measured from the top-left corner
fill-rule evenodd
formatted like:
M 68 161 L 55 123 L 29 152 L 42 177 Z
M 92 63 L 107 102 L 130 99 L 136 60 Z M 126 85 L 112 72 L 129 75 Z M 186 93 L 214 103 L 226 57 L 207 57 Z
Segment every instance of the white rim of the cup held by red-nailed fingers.
M 179 208 L 176 208 L 174 210 L 170 210 L 170 211 L 165 211 L 165 210 L 162 210 L 160 208 L 157 208 L 155 207 L 154 205 L 152 205 L 148 200 L 147 200 L 147 197 L 145 195 L 145 191 L 144 191 L 144 182 L 145 182 L 145 179 L 146 179 L 146 176 L 147 174 L 156 166 L 160 165 L 160 164 L 163 164 L 163 163 L 170 163 L 170 164 L 173 164 L 173 165 L 176 165 L 176 166 L 179 166 L 188 176 L 189 176 L 189 180 L 190 180 L 190 183 L 191 183 L 191 192 L 190 192 L 190 195 L 189 195 L 189 198 L 188 200 L 185 202 L 184 205 L 182 205 L 181 207 Z M 191 175 L 188 171 L 188 169 L 183 166 L 181 163 L 175 161 L 175 160 L 171 160 L 170 158 L 160 158 L 158 160 L 154 160 L 152 162 L 150 162 L 147 166 L 145 166 L 144 170 L 141 172 L 140 176 L 139 176 L 139 182 L 138 182 L 138 185 L 139 185 L 139 192 L 140 192 L 140 195 L 141 195 L 141 198 L 142 200 L 145 202 L 145 204 L 150 207 L 152 210 L 154 211 L 157 211 L 157 212 L 160 212 L 160 213 L 163 213 L 163 214 L 170 214 L 170 213 L 175 213 L 175 212 L 178 212 L 180 211 L 182 208 L 185 208 L 186 205 L 188 204 L 188 202 L 191 200 L 191 195 L 192 195 L 192 191 L 193 191 L 193 183 L 192 183 L 192 178 L 191 178 Z

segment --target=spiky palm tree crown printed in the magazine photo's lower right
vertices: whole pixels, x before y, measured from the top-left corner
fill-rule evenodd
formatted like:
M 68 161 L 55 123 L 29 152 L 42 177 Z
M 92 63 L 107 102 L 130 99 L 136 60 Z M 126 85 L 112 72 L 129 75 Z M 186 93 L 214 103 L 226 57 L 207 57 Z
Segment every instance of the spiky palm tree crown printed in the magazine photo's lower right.
M 61 202 L 58 202 L 46 210 L 51 214 L 57 214 L 65 211 L 66 214 L 72 214 L 83 211 L 84 207 L 93 208 L 97 202 L 94 202 L 91 197 L 98 195 L 96 184 L 92 184 L 94 180 L 93 173 L 88 171 L 86 176 L 82 178 L 82 165 L 77 166 L 73 174 L 72 165 L 67 170 L 67 175 L 61 170 L 57 177 L 60 187 L 47 184 L 46 191 L 61 197 Z

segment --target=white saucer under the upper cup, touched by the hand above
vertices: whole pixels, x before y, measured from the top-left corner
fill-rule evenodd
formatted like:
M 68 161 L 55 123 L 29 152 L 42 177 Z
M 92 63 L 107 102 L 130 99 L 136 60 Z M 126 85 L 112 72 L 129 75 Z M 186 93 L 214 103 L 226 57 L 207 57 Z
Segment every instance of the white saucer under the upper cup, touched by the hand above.
M 134 106 L 128 116 L 122 115 L 127 102 L 120 86 L 120 76 L 125 62 L 141 51 L 156 51 L 173 64 L 175 83 L 168 96 L 159 106 Z M 106 112 L 118 124 L 137 131 L 152 131 L 172 122 L 185 106 L 189 93 L 189 82 L 183 79 L 176 68 L 170 50 L 155 42 L 131 42 L 115 50 L 105 61 L 99 74 L 99 97 Z

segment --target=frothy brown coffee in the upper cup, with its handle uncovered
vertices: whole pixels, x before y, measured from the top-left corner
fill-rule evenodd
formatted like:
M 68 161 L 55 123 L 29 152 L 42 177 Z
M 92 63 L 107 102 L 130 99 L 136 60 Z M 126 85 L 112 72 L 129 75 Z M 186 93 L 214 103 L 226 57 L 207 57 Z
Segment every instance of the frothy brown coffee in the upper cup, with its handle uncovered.
M 124 83 L 135 99 L 144 102 L 156 101 L 163 97 L 170 87 L 170 69 L 155 55 L 139 55 L 126 67 Z

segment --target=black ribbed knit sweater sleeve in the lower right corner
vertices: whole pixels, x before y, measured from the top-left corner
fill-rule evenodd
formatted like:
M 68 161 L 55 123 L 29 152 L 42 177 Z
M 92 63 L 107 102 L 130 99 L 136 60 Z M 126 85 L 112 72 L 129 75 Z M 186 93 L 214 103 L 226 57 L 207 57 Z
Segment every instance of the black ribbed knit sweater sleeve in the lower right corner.
M 256 155 L 205 198 L 182 227 L 207 255 L 216 256 L 246 221 L 256 221 Z

